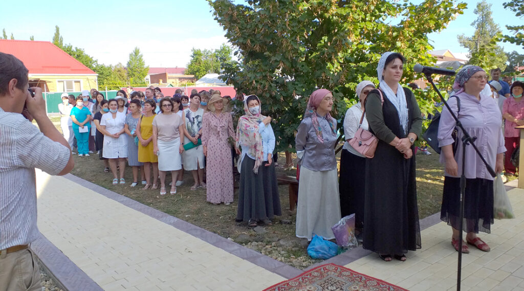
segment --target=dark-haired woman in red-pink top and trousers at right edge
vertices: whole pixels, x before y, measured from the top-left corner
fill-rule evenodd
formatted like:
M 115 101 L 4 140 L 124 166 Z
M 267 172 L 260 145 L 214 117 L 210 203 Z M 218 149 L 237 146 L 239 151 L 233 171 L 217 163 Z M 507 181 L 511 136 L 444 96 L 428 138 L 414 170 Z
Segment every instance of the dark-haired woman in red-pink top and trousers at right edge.
M 524 102 L 522 102 L 524 83 L 515 81 L 509 89 L 509 97 L 504 100 L 502 112 L 504 117 L 504 142 L 506 144 L 506 160 L 504 163 L 505 175 L 512 176 L 517 172 L 511 163 L 511 154 L 520 145 L 520 129 L 515 127 L 524 125 Z

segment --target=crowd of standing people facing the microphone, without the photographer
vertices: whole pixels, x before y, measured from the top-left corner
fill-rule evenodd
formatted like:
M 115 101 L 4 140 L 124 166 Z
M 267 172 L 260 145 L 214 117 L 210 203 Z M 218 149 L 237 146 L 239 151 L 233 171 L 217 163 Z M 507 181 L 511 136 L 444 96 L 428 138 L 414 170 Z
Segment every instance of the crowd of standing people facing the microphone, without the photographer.
M 350 141 L 363 128 L 378 138 L 378 145 L 374 158 L 366 158 L 345 142 L 340 176 L 334 152 L 337 120 L 330 114 L 333 93 L 318 89 L 309 97 L 295 140 L 300 169 L 297 237 L 311 240 L 318 234 L 334 239 L 331 227 L 341 217 L 355 214 L 357 238 L 381 259 L 405 261 L 408 251 L 421 248 L 414 153 L 422 116 L 413 92 L 400 84 L 405 62 L 400 53 L 384 53 L 377 67 L 379 83 L 366 80 L 356 86 L 358 102 L 347 109 L 344 118 L 345 140 Z M 515 166 L 509 163 L 508 154 L 504 163 L 504 152 L 511 153 L 519 145 L 515 126 L 524 125 L 524 85 L 516 81 L 509 86 L 498 80 L 500 70 L 490 74 L 493 80 L 488 83 L 482 68 L 464 66 L 456 75 L 453 92 L 460 98 L 460 110 L 456 98 L 450 98 L 449 104 L 455 114 L 460 113 L 465 129 L 478 137 L 475 144 L 486 153 L 488 163 L 498 173 L 505 169 L 506 175 L 512 175 Z M 242 116 L 234 114 L 240 108 L 231 110 L 235 98 L 243 101 Z M 170 188 L 169 193 L 176 194 L 177 186 L 183 184 L 183 171 L 189 171 L 191 190 L 205 188 L 207 202 L 230 205 L 237 156 L 236 221 L 250 227 L 271 225 L 281 215 L 272 119 L 261 113 L 262 102 L 256 95 L 231 98 L 219 91 L 193 90 L 186 96 L 178 89 L 173 96 L 164 96 L 161 88 L 149 87 L 144 93 L 120 90 L 110 100 L 95 89 L 78 97 L 64 93 L 62 99 L 59 109 L 65 139 L 73 147 L 74 136 L 79 156 L 86 156 L 93 153 L 93 137 L 93 150 L 104 160 L 104 171 L 113 174 L 113 184 L 126 184 L 127 164 L 133 169 L 130 186 L 141 183 L 144 189 L 160 188 L 160 195 Z M 489 251 L 476 234 L 489 233 L 493 223 L 493 177 L 473 150 L 453 151 L 454 127 L 444 108 L 438 137 L 445 167 L 441 219 L 452 227 L 451 241 L 457 251 L 467 253 L 467 244 Z M 459 132 L 459 139 L 461 136 Z M 457 220 L 462 155 L 467 163 L 467 187 L 461 222 Z M 166 185 L 168 172 L 170 187 Z M 462 243 L 458 241 L 460 223 L 467 233 Z

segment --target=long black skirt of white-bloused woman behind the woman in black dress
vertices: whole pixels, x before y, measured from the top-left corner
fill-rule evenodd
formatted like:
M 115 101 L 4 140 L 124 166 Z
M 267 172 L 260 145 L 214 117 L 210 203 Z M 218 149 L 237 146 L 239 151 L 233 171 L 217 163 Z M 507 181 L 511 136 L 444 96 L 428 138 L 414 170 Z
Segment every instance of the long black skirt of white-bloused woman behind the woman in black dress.
M 342 150 L 340 156 L 340 211 L 342 217 L 355 214 L 355 228 L 364 225 L 364 178 L 366 158 Z

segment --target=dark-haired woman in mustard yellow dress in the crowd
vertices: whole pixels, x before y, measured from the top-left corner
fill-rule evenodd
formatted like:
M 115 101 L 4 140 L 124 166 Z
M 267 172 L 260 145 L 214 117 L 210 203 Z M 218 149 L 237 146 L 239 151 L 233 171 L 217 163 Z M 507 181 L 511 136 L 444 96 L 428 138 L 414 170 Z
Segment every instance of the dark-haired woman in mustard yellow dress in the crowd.
M 138 161 L 144 163 L 144 174 L 146 175 L 145 189 L 152 190 L 158 188 L 158 156 L 153 151 L 153 119 L 155 119 L 155 109 L 157 104 L 153 99 L 144 102 L 144 115 L 138 120 L 136 125 L 136 136 L 138 137 Z M 153 182 L 151 184 L 151 167 L 153 172 Z

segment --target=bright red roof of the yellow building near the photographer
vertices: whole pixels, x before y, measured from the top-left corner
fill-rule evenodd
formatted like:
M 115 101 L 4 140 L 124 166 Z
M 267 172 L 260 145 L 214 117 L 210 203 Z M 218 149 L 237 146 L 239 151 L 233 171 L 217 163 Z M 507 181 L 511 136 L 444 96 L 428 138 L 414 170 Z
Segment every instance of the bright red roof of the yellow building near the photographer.
M 49 41 L 0 39 L 0 51 L 24 62 L 29 74 L 96 74 Z

